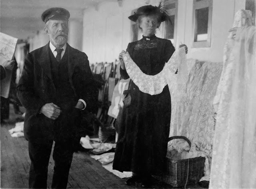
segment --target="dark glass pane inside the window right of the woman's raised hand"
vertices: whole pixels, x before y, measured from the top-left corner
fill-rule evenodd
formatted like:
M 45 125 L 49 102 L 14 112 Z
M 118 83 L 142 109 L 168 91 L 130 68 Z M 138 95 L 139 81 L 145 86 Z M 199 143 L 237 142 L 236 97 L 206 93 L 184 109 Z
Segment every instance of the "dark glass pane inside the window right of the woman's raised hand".
M 196 10 L 196 27 L 194 41 L 207 41 L 209 8 Z

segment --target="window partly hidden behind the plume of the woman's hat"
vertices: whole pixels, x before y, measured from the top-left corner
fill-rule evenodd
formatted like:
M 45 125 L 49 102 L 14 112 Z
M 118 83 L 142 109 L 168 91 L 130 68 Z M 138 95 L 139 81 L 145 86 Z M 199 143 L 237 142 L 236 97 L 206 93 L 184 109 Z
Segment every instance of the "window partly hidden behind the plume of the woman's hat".
M 164 23 L 164 38 L 172 42 L 176 46 L 176 29 L 177 29 L 177 13 L 178 13 L 178 0 L 171 0 L 168 7 L 169 19 Z

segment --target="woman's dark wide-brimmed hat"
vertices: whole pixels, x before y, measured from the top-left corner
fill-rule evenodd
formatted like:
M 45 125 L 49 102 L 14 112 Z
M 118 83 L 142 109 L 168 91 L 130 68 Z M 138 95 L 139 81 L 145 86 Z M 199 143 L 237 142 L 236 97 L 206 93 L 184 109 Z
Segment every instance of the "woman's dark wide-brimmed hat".
M 129 16 L 128 18 L 132 20 L 133 22 L 136 22 L 139 16 L 142 15 L 159 15 L 160 16 L 160 22 L 164 22 L 165 20 L 168 19 L 168 16 L 165 14 L 165 12 L 162 12 L 159 7 L 157 6 L 152 6 L 152 5 L 146 5 L 146 6 L 141 6 L 140 8 L 137 9 L 136 12 L 134 12 L 133 15 Z

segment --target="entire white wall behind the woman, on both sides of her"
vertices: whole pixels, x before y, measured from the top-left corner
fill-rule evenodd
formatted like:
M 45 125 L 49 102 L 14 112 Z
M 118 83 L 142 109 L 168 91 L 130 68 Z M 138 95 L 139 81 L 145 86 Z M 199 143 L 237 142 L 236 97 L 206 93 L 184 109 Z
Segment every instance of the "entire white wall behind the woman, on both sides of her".
M 123 0 L 99 4 L 98 10 L 91 7 L 84 10 L 82 51 L 91 63 L 113 62 L 121 50 L 126 50 L 131 42 L 131 21 L 128 16 L 132 10 L 146 5 L 145 0 Z M 158 0 L 150 0 L 157 5 Z M 178 24 L 176 48 L 180 42 L 187 44 L 188 58 L 222 62 L 223 47 L 232 27 L 234 13 L 245 7 L 245 0 L 213 0 L 212 34 L 209 48 L 191 48 L 193 0 L 178 0 Z M 162 29 L 156 36 L 162 37 Z

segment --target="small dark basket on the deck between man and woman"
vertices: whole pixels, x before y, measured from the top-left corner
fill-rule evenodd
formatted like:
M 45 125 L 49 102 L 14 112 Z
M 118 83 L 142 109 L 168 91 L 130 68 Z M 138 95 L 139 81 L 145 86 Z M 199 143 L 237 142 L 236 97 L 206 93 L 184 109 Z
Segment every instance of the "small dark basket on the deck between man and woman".
M 100 126 L 98 135 L 101 142 L 107 142 L 110 137 L 116 135 L 114 125 L 104 124 Z

